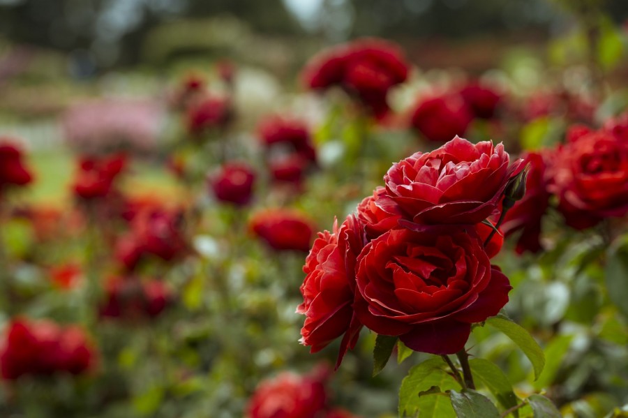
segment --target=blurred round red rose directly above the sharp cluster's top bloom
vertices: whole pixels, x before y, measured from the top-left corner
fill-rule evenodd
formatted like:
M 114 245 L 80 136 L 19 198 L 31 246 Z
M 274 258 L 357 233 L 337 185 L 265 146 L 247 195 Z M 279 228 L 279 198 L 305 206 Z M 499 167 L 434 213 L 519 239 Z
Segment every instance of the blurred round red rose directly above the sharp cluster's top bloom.
M 459 94 L 444 94 L 421 100 L 412 112 L 410 124 L 428 141 L 447 142 L 464 135 L 473 117 Z

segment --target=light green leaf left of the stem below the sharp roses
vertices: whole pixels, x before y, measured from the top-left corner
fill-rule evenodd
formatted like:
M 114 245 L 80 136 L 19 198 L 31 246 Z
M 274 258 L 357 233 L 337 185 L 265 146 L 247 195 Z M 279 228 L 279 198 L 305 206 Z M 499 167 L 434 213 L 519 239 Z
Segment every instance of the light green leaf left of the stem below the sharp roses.
M 399 389 L 399 417 L 415 417 L 419 411 L 421 418 L 456 417 L 448 398 L 432 394 L 419 396 L 435 386 L 442 390 L 460 389 L 458 382 L 444 371 L 444 366 L 440 357 L 433 357 L 410 369 Z

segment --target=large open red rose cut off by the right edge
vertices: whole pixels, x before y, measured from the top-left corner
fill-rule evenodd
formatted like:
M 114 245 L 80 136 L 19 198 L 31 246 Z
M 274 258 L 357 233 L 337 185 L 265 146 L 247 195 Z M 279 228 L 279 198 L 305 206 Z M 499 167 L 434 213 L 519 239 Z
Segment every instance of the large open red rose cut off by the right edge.
M 548 190 L 558 210 L 578 230 L 628 213 L 628 142 L 605 131 L 592 132 L 556 151 Z

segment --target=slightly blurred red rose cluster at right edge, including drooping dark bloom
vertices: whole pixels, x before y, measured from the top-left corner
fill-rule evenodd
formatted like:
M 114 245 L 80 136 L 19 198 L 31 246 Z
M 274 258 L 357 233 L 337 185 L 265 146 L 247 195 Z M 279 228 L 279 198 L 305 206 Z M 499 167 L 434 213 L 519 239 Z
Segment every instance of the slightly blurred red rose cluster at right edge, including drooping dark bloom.
M 541 221 L 552 196 L 565 223 L 576 230 L 628 213 L 627 131 L 628 114 L 609 119 L 599 130 L 576 124 L 567 130 L 565 144 L 524 155 L 530 165 L 528 193 L 503 223 L 505 234 L 520 232 L 518 253 L 542 249 Z

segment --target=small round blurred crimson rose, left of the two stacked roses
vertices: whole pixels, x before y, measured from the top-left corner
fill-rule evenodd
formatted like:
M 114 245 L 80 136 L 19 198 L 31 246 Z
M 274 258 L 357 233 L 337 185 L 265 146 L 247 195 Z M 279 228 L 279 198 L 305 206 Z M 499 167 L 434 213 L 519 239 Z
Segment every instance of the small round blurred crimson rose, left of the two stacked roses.
M 216 199 L 245 206 L 253 197 L 255 172 L 246 163 L 226 163 L 209 182 Z

